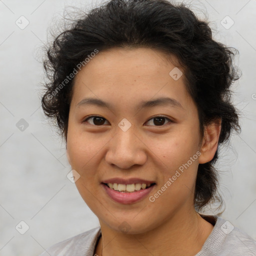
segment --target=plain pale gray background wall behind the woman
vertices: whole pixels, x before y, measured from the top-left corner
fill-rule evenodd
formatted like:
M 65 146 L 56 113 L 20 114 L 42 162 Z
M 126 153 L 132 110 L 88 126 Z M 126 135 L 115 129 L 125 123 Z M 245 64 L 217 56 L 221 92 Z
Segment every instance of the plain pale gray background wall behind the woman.
M 190 3 L 200 17 L 200 9 L 207 11 L 216 40 L 240 52 L 235 63 L 242 77 L 233 85 L 233 99 L 243 112 L 242 132 L 223 148 L 217 166 L 226 203 L 222 217 L 256 239 L 256 0 Z M 43 77 L 40 47 L 47 40 L 47 28 L 54 24 L 53 17 L 61 18 L 65 6 L 90 9 L 98 4 L 100 1 L 0 0 L 2 256 L 38 255 L 51 244 L 99 225 L 66 177 L 71 168 L 65 144 L 44 118 L 39 99 Z M 25 24 L 21 15 L 29 21 L 24 29 L 15 24 L 16 20 Z M 234 21 L 228 29 L 220 23 L 226 15 Z M 23 130 L 21 118 L 28 123 Z M 15 229 L 21 220 L 29 226 L 24 234 Z M 24 224 L 21 226 L 24 230 Z

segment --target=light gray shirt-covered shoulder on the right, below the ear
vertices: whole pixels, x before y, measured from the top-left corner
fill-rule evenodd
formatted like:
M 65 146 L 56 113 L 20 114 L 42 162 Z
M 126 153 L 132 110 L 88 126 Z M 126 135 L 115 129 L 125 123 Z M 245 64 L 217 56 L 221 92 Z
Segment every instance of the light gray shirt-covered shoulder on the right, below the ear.
M 196 256 L 232 255 L 255 256 L 256 241 L 248 234 L 221 217 L 216 218 L 214 228 Z

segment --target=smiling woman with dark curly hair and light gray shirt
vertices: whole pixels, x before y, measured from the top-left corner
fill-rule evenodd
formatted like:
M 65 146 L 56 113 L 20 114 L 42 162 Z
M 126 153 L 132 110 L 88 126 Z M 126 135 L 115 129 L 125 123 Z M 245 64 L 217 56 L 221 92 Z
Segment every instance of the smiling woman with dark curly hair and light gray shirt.
M 41 255 L 255 255 L 251 237 L 199 213 L 221 205 L 213 164 L 240 130 L 233 54 L 165 0 L 111 0 L 55 38 L 42 107 L 100 227 Z

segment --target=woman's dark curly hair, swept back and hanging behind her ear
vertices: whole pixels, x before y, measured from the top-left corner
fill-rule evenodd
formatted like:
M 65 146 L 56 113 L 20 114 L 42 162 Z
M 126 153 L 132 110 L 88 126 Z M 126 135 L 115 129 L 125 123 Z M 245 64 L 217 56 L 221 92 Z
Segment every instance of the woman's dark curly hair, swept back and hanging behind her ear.
M 212 39 L 208 22 L 199 20 L 182 4 L 167 0 L 110 0 L 82 14 L 47 47 L 43 60 L 47 75 L 41 104 L 60 135 L 67 136 L 69 103 L 74 72 L 79 62 L 97 49 L 149 47 L 174 55 L 184 70 L 185 86 L 194 100 L 203 136 L 205 125 L 221 118 L 218 148 L 211 161 L 199 164 L 194 206 L 202 210 L 222 199 L 217 191 L 214 163 L 219 144 L 229 141 L 232 130 L 240 131 L 238 110 L 231 103 L 230 85 L 239 78 L 232 59 L 238 51 Z M 62 83 L 61 89 L 59 89 Z M 57 89 L 57 91 L 56 91 Z

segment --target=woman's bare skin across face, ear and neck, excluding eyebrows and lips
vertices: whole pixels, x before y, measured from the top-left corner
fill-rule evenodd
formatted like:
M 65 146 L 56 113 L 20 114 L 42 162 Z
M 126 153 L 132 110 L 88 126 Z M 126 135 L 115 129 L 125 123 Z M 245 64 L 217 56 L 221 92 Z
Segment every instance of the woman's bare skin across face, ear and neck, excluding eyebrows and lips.
M 199 163 L 210 161 L 217 149 L 220 121 L 205 127 L 200 139 L 197 109 L 184 85 L 169 72 L 177 59 L 150 48 L 113 48 L 99 52 L 76 75 L 70 104 L 66 151 L 80 178 L 77 189 L 99 219 L 102 236 L 94 253 L 103 255 L 195 255 L 212 231 L 212 224 L 194 209 L 193 196 Z M 179 67 L 180 70 L 182 68 Z M 181 107 L 138 108 L 142 100 L 168 96 Z M 112 108 L 83 105 L 85 97 Z M 89 115 L 98 115 L 95 125 Z M 155 125 L 156 116 L 168 119 Z M 126 118 L 126 131 L 118 123 Z M 84 121 L 84 122 L 83 122 Z M 148 197 L 196 152 L 200 156 L 154 201 Z M 156 186 L 132 204 L 113 201 L 101 187 L 103 179 L 138 177 Z M 125 222 L 124 222 L 125 221 Z M 122 232 L 119 225 L 128 225 Z M 185 245 L 185 246 L 184 246 Z

